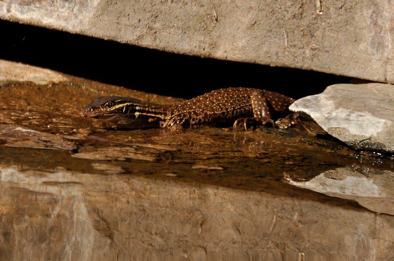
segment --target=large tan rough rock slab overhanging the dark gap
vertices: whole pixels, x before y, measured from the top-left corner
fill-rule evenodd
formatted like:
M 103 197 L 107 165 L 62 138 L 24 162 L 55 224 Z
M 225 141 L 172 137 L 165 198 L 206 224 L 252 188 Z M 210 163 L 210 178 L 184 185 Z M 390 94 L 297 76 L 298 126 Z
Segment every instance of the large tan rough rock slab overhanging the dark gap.
M 390 1 L 4 0 L 0 19 L 173 53 L 394 83 Z

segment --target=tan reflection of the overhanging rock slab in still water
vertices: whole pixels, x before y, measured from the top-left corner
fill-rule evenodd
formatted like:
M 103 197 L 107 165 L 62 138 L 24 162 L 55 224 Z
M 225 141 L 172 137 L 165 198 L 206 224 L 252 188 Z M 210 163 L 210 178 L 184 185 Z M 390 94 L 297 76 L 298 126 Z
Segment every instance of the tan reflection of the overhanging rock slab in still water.
M 6 166 L 0 178 L 2 259 L 393 258 L 392 216 L 294 188 Z

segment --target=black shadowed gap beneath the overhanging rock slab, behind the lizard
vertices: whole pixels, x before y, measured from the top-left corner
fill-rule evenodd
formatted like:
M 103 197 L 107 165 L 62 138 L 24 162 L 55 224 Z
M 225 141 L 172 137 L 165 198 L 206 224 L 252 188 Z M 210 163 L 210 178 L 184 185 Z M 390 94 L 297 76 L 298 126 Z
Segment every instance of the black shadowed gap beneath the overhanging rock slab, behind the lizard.
M 349 81 L 314 71 L 171 54 L 1 20 L 0 28 L 0 59 L 175 97 L 191 98 L 221 87 L 258 87 L 299 98 Z

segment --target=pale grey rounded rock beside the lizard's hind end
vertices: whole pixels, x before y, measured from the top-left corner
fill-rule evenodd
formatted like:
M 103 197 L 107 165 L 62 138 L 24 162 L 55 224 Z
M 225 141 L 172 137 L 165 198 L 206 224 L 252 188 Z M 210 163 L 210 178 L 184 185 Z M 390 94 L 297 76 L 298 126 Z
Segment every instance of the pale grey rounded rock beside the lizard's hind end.
M 321 94 L 297 100 L 290 110 L 310 115 L 348 145 L 394 151 L 393 85 L 332 85 Z

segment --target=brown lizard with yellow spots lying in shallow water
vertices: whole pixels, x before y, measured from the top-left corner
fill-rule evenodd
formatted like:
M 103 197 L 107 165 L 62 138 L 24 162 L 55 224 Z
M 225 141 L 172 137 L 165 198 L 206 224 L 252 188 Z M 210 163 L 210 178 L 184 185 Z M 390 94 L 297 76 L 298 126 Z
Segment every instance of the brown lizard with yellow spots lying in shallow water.
M 197 125 L 243 126 L 271 123 L 271 112 L 286 112 L 295 100 L 255 88 L 231 87 L 213 90 L 196 98 L 161 105 L 130 97 L 99 97 L 87 105 L 82 116 L 107 119 L 119 127 L 179 129 Z M 273 109 L 273 110 L 272 110 Z

